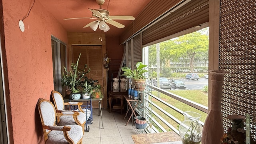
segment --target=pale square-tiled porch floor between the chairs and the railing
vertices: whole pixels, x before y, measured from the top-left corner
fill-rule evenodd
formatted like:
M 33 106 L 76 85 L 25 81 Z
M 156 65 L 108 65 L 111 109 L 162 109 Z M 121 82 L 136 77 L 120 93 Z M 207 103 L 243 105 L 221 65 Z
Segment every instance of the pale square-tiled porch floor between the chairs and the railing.
M 108 109 L 102 109 L 102 120 L 98 116 L 98 109 L 93 109 L 93 123 L 89 132 L 84 132 L 83 144 L 134 144 L 131 135 L 137 134 L 132 127 L 131 121 L 125 126 L 127 118 L 123 120 L 125 112 L 109 112 Z

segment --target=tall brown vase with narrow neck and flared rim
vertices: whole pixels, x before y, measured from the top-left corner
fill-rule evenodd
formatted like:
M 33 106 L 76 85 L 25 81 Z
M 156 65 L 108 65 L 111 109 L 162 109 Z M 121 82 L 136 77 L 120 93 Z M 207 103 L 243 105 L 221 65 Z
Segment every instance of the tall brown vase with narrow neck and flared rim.
M 221 108 L 222 82 L 226 71 L 209 70 L 212 80 L 211 106 L 202 132 L 202 144 L 220 144 L 224 134 Z

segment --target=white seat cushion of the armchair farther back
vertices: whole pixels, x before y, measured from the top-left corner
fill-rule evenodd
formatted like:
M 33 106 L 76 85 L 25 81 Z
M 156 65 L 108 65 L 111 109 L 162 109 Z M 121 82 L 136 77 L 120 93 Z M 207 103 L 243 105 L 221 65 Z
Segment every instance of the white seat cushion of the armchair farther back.
M 78 121 L 83 124 L 84 122 L 86 122 L 86 116 L 83 112 L 79 112 L 79 115 L 77 116 Z M 60 116 L 60 122 L 58 123 L 58 126 L 65 126 L 68 124 L 76 124 L 73 116 Z

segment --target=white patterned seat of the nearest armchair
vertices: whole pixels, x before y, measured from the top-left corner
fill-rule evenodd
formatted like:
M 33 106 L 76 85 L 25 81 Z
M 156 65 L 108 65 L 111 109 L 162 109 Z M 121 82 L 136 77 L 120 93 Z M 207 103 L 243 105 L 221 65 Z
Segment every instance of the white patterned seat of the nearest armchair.
M 68 131 L 68 136 L 74 141 L 75 144 L 83 137 L 82 126 L 79 125 L 66 125 L 70 126 L 70 131 Z M 68 141 L 65 139 L 63 131 L 61 130 L 52 130 L 48 134 L 48 140 L 46 144 L 68 144 Z

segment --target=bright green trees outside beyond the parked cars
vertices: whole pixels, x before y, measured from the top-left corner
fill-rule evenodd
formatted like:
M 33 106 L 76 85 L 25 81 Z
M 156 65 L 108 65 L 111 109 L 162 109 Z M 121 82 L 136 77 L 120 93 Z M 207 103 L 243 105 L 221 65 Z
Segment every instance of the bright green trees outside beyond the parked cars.
M 195 62 L 208 61 L 208 28 L 197 32 L 192 32 L 172 40 L 166 40 L 160 43 L 160 73 L 164 67 L 168 67 L 170 62 L 179 63 L 184 67 L 189 67 L 187 72 L 194 71 Z M 148 47 L 149 65 L 156 66 L 156 44 Z M 167 76 L 169 73 L 166 74 Z

